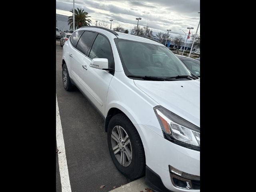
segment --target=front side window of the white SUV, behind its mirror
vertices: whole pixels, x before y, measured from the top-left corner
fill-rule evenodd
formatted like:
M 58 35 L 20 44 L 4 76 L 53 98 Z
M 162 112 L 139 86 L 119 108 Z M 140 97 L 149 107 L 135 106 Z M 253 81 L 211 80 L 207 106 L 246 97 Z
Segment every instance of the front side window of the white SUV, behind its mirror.
M 114 59 L 110 44 L 108 40 L 100 34 L 98 34 L 96 40 L 94 41 L 89 57 L 91 59 L 107 58 L 109 67 L 114 68 Z

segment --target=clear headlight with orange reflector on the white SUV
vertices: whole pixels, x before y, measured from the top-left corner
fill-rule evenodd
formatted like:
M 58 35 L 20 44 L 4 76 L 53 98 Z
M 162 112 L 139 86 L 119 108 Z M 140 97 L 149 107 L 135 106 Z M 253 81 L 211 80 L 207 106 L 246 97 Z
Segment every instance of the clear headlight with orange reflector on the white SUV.
M 164 133 L 171 142 L 200 151 L 200 128 L 162 106 L 154 111 Z

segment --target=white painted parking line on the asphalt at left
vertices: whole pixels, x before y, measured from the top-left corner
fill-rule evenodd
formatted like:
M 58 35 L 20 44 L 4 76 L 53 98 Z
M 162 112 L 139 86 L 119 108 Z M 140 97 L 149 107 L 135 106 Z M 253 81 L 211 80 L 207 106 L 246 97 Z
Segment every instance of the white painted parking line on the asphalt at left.
M 60 112 L 57 101 L 56 94 L 56 139 L 58 147 L 58 159 L 59 159 L 59 169 L 60 169 L 60 182 L 62 192 L 71 192 L 70 181 L 68 176 L 68 165 L 66 160 L 65 144 L 62 134 L 62 126 L 60 121 Z

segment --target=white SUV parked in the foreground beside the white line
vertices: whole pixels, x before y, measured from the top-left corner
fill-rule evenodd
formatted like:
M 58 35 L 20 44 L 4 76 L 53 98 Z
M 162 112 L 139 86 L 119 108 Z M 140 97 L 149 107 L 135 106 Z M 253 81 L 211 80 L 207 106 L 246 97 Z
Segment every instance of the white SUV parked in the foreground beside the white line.
M 63 46 L 62 81 L 105 119 L 116 168 L 155 191 L 200 191 L 200 78 L 164 45 L 88 26 Z

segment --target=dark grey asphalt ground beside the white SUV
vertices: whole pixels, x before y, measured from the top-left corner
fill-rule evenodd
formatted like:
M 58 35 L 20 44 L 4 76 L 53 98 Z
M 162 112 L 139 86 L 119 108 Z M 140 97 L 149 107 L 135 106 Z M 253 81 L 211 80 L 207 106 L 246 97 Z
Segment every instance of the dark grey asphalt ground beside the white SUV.
M 62 47 L 56 40 L 56 96 L 72 192 L 108 192 L 131 182 L 114 166 L 104 120 L 79 90 L 62 86 Z M 59 151 L 61 153 L 61 151 Z M 56 153 L 56 192 L 62 191 Z M 100 186 L 105 185 L 104 188 Z

